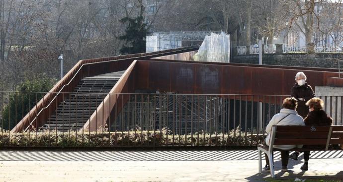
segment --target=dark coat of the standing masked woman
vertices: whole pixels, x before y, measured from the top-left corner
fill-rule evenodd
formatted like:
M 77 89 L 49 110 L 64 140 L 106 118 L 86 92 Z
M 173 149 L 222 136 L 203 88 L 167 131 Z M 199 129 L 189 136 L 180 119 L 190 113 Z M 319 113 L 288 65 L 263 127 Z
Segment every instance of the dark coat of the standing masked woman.
M 297 100 L 299 98 L 305 98 L 305 101 L 298 100 L 297 107 L 298 115 L 305 118 L 309 113 L 309 107 L 305 104 L 308 100 L 314 98 L 314 92 L 312 87 L 308 85 L 307 82 L 305 82 L 305 84 L 302 86 L 298 85 L 298 83 L 295 83 L 295 85 L 291 89 L 291 96 L 296 98 Z

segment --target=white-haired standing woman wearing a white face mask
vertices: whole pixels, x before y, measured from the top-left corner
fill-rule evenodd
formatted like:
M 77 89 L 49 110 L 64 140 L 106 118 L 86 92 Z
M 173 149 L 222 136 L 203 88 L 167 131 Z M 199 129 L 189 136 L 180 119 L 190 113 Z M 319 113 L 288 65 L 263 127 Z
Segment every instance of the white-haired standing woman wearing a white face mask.
M 305 105 L 307 101 L 314 98 L 312 87 L 306 82 L 306 75 L 304 72 L 297 72 L 295 75 L 296 83 L 291 89 L 291 97 L 298 100 L 297 112 L 303 118 L 306 118 L 309 113 L 309 108 Z

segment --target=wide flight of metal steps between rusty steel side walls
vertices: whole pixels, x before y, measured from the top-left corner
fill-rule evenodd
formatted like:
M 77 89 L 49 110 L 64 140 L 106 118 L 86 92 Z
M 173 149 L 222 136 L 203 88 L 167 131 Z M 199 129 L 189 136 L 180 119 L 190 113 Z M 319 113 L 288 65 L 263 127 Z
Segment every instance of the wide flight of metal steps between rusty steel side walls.
M 42 129 L 81 129 L 123 73 L 112 72 L 82 79 L 73 93 L 63 95 L 64 100 Z

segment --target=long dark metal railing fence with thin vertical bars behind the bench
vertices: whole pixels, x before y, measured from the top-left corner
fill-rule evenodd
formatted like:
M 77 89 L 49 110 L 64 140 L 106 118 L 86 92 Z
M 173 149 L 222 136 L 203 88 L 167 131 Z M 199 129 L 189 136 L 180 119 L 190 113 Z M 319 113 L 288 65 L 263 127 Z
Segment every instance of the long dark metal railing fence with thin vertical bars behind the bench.
M 0 92 L 0 147 L 121 147 L 256 145 L 265 126 L 281 109 L 283 95 L 111 94 L 127 98 L 109 108 L 95 131 L 84 124 L 108 94 L 59 93 L 64 101 L 49 119 L 15 131 L 45 93 Z M 57 93 L 50 93 L 51 95 Z M 96 98 L 96 99 L 94 99 Z M 322 97 L 334 124 L 341 125 L 342 98 Z M 106 105 L 104 105 L 106 107 Z M 47 108 L 45 106 L 45 108 Z M 13 129 L 12 131 L 10 131 Z

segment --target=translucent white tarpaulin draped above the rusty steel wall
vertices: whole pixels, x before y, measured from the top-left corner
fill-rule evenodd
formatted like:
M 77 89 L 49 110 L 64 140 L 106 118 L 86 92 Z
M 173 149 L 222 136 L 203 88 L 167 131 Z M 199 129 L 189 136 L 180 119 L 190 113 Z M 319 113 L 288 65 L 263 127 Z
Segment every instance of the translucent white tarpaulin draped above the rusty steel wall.
M 194 61 L 230 62 L 230 35 L 221 32 L 206 35 Z

